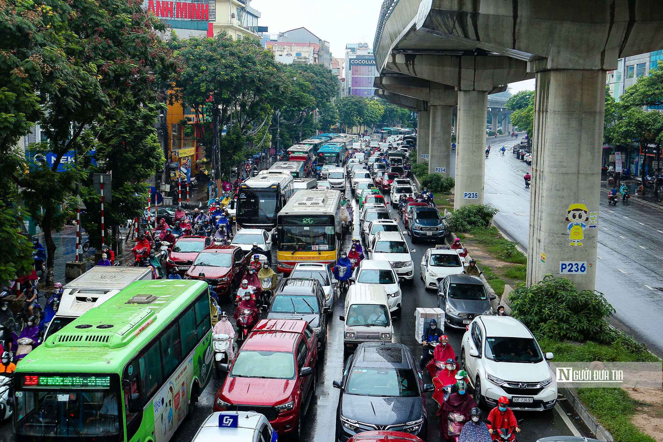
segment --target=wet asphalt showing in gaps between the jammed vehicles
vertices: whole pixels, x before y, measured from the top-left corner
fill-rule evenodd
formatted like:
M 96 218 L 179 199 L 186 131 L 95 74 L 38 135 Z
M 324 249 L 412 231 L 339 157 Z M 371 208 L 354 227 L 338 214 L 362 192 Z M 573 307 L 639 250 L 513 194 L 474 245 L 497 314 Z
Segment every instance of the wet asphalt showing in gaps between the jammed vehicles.
M 348 191 L 349 192 L 349 191 Z M 348 195 L 349 197 L 350 195 Z M 389 197 L 389 195 L 387 195 Z M 355 207 L 355 232 L 359 232 L 358 207 L 355 199 L 353 207 Z M 391 207 L 389 207 L 391 209 Z M 392 217 L 398 217 L 398 212 L 392 210 Z M 401 224 L 402 227 L 402 224 Z M 357 235 L 359 237 L 359 235 Z M 346 235 L 343 240 L 343 250 L 349 250 L 349 240 L 352 237 Z M 437 298 L 435 292 L 426 291 L 424 283 L 419 278 L 418 264 L 421 262 L 422 256 L 428 247 L 433 245 L 426 245 L 423 243 L 412 245 L 410 237 L 406 236 L 406 240 L 410 245 L 410 249 L 415 249 L 416 252 L 412 253 L 412 259 L 415 264 L 415 278 L 412 284 L 404 282 L 401 284 L 403 292 L 402 300 L 402 317 L 394 320 L 394 341 L 404 343 L 407 345 L 414 356 L 418 359 L 422 352 L 420 345 L 416 342 L 414 337 L 414 311 L 416 307 L 437 307 Z M 275 253 L 274 253 L 274 256 Z M 334 303 L 334 311 L 331 313 L 331 318 L 328 327 L 328 342 L 327 350 L 324 353 L 324 360 L 320 362 L 318 388 L 316 398 L 312 402 L 306 423 L 304 425 L 304 442 L 333 442 L 335 441 L 335 425 L 336 425 L 336 408 L 339 398 L 339 390 L 333 388 L 331 382 L 341 378 L 343 370 L 343 323 L 339 321 L 339 315 L 343 314 L 344 298 L 337 297 Z M 222 308 L 227 309 L 229 315 L 233 313 L 232 305 L 222 305 Z M 460 354 L 460 342 L 463 336 L 463 331 L 456 331 L 453 329 L 446 329 L 445 333 L 450 338 L 450 343 L 457 355 Z M 424 374 L 425 382 L 431 382 L 428 374 Z M 198 410 L 196 415 L 186 421 L 173 437 L 174 442 L 189 442 L 194 437 L 198 427 L 208 414 L 211 413 L 213 400 L 221 382 L 213 377 L 210 385 L 200 397 Z M 440 442 L 439 419 L 436 416 L 437 404 L 432 400 L 430 393 L 427 396 L 426 404 L 428 406 L 428 442 Z M 560 402 L 564 408 L 568 408 L 566 402 Z M 487 417 L 489 410 L 483 410 L 483 417 Z M 566 410 L 566 413 L 571 413 L 572 410 Z M 549 412 L 516 412 L 518 419 L 524 419 L 520 427 L 522 433 L 518 436 L 518 441 L 532 442 L 540 437 L 547 437 L 552 435 L 570 435 L 572 431 L 564 423 L 558 410 Z M 565 415 L 566 417 L 566 415 Z M 571 415 L 569 417 L 572 421 L 579 421 L 577 417 Z M 579 431 L 585 435 L 585 429 L 577 425 Z

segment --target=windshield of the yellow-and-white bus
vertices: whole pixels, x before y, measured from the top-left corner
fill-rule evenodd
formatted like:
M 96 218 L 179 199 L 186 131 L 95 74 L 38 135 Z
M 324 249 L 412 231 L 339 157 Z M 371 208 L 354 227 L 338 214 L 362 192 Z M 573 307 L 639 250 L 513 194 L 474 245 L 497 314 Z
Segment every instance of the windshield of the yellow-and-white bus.
M 284 252 L 335 250 L 335 235 L 333 217 L 328 215 L 283 218 L 280 219 L 278 226 L 278 250 Z

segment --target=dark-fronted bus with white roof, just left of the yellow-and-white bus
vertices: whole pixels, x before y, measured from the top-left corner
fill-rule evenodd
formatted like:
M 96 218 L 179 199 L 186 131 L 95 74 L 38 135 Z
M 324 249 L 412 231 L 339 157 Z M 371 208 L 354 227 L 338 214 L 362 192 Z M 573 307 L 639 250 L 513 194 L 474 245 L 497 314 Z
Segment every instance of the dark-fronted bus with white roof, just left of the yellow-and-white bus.
M 239 184 L 235 219 L 242 229 L 276 228 L 276 215 L 294 192 L 292 174 L 258 175 Z

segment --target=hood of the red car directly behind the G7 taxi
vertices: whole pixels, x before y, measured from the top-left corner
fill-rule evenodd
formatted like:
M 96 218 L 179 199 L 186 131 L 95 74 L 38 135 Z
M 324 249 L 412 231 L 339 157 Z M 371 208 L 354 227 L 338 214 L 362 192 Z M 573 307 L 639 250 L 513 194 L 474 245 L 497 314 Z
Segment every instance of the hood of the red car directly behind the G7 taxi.
M 228 377 L 223 382 L 221 396 L 230 404 L 272 406 L 290 398 L 296 382 L 289 379 Z

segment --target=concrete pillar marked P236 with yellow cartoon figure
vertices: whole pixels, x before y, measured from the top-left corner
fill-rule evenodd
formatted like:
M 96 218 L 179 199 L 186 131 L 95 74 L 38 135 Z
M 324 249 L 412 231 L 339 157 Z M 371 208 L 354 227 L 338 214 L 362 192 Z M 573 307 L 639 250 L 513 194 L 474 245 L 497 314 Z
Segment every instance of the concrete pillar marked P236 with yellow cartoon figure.
M 605 70 L 536 73 L 528 286 L 561 273 L 594 289 L 604 107 Z

